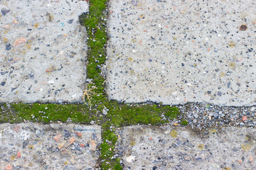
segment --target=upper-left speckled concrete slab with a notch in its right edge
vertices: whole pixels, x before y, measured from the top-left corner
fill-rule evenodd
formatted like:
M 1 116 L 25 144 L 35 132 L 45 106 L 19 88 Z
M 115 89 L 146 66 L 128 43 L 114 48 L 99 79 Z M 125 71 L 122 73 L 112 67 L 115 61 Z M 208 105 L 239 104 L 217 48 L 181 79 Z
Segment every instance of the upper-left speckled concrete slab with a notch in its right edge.
M 0 1 L 0 102 L 78 102 L 85 83 L 86 1 Z

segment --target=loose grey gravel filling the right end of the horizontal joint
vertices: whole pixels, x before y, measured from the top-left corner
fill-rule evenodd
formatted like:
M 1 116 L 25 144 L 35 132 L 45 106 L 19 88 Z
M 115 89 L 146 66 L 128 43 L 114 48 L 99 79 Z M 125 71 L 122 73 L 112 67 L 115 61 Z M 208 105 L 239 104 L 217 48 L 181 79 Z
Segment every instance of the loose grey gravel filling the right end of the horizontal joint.
M 173 122 L 188 121 L 191 128 L 205 129 L 223 126 L 245 126 L 256 128 L 256 110 L 250 107 L 223 107 L 203 103 L 188 103 L 179 108 L 181 115 Z M 247 120 L 243 121 L 245 116 Z

